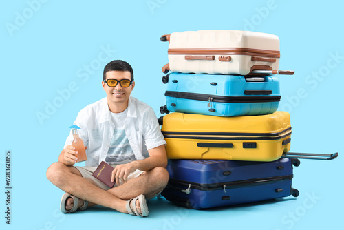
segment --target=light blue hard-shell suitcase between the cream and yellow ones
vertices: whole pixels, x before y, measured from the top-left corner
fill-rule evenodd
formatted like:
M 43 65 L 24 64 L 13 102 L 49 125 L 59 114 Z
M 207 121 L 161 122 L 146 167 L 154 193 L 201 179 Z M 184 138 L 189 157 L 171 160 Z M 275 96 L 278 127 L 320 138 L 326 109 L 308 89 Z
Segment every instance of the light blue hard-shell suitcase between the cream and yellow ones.
M 272 114 L 281 95 L 275 76 L 237 76 L 171 73 L 167 83 L 166 105 L 162 114 L 183 112 L 213 116 Z

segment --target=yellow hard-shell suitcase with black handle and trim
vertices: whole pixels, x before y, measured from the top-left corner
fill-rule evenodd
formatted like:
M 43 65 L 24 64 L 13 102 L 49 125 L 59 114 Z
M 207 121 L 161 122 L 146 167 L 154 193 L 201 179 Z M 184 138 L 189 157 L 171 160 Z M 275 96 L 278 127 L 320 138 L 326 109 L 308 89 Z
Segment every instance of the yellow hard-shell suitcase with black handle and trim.
M 207 116 L 174 112 L 160 118 L 169 159 L 272 161 L 290 149 L 290 115 Z

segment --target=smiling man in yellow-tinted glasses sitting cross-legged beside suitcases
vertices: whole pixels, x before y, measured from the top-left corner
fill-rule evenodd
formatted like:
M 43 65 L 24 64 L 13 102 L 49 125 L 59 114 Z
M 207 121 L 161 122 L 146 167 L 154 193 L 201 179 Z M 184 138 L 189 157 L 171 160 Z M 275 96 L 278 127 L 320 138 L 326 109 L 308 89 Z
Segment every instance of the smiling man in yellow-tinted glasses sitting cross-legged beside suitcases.
M 47 178 L 66 192 L 61 199 L 63 213 L 103 205 L 148 216 L 146 199 L 158 196 L 169 180 L 166 142 L 153 109 L 130 96 L 135 81 L 127 62 L 108 63 L 102 85 L 107 97 L 87 105 L 74 122 L 87 149 L 85 167 L 74 166 L 78 152 L 70 134 L 58 162 L 47 169 Z M 112 188 L 92 176 L 103 160 L 115 167 Z

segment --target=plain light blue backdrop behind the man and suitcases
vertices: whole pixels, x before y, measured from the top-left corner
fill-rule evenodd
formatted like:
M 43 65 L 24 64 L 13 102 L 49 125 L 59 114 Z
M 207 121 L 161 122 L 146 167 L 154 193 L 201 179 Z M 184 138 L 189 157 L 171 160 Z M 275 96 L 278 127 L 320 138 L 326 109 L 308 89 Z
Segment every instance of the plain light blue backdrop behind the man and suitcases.
M 206 211 L 154 199 L 149 218 L 103 207 L 63 215 L 58 210 L 63 192 L 46 179 L 45 171 L 57 160 L 78 111 L 106 96 L 100 82 L 103 67 L 113 59 L 131 63 L 136 76 L 132 96 L 160 116 L 166 89 L 161 67 L 168 62 L 168 44 L 159 38 L 186 30 L 252 30 L 279 36 L 279 66 L 295 70 L 294 76 L 279 76 L 279 109 L 291 114 L 291 151 L 343 153 L 343 21 L 343 3 L 338 1 L 2 1 L 1 229 L 341 226 L 341 155 L 328 162 L 301 160 L 293 180 L 298 198 Z M 45 116 L 39 119 L 37 114 Z M 6 151 L 12 151 L 10 226 L 4 218 Z

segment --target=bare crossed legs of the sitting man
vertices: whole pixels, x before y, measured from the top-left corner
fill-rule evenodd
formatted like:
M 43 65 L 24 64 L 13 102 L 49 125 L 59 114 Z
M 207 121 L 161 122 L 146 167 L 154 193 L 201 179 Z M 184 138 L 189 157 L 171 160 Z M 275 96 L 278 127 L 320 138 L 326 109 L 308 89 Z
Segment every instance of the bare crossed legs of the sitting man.
M 88 207 L 102 205 L 122 213 L 129 213 L 126 207 L 127 200 L 140 194 L 144 194 L 147 198 L 155 196 L 166 187 L 169 173 L 163 167 L 155 167 L 122 185 L 105 190 L 83 178 L 76 167 L 56 162 L 47 169 L 47 178 L 58 188 L 79 198 L 78 207 L 82 207 L 83 200 L 87 200 Z M 73 205 L 73 198 L 68 198 L 65 209 L 70 210 Z M 134 204 L 130 205 L 134 210 Z M 140 208 L 140 202 L 136 200 L 136 209 L 142 213 Z

